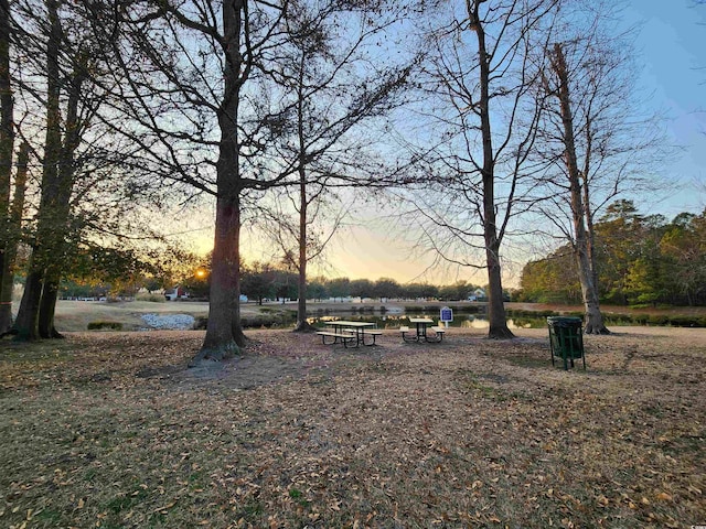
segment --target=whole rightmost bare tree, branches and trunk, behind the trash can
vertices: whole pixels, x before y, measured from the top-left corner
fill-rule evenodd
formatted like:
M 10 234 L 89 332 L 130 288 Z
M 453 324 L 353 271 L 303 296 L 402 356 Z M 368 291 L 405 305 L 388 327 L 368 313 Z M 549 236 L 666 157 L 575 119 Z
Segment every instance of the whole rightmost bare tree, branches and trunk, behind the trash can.
M 634 110 L 630 35 L 614 31 L 612 14 L 605 2 L 570 11 L 556 33 L 561 40 L 539 60 L 543 114 L 535 154 L 549 165 L 539 210 L 574 249 L 585 332 L 595 334 L 608 330 L 599 305 L 593 217 L 619 194 L 646 188 L 639 169 L 660 152 L 659 123 Z

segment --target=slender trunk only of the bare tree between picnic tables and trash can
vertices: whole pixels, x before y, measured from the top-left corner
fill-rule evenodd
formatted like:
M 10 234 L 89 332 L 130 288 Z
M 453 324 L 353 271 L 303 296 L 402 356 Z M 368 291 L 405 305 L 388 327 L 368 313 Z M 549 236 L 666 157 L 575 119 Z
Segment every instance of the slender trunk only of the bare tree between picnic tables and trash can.
M 503 302 L 503 284 L 500 262 L 501 240 L 498 236 L 495 215 L 495 160 L 493 153 L 493 133 L 490 121 L 490 55 L 485 48 L 485 31 L 480 22 L 480 1 L 467 2 L 471 29 L 478 37 L 478 57 L 480 64 L 480 98 L 478 111 L 481 118 L 481 137 L 483 139 L 483 237 L 485 242 L 485 262 L 488 267 L 488 321 L 489 338 L 513 338 L 507 327 L 505 305 Z M 471 6 L 472 4 L 472 6 Z

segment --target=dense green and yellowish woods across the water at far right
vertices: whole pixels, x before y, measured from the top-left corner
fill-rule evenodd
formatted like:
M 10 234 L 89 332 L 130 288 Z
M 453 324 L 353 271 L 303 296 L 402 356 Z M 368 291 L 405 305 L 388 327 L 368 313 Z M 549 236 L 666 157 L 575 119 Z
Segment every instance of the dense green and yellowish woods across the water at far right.
M 602 303 L 619 305 L 706 305 L 706 210 L 640 215 L 622 201 L 595 226 L 595 255 Z M 571 248 L 528 262 L 518 301 L 580 303 Z

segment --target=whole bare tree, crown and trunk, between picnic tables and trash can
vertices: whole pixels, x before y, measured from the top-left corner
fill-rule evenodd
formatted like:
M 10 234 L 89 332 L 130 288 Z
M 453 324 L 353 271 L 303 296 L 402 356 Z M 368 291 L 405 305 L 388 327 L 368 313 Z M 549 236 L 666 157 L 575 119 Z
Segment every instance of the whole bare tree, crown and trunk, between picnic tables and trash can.
M 489 336 L 510 338 L 503 305 L 502 242 L 533 185 L 527 168 L 537 107 L 531 51 L 546 37 L 553 0 L 468 0 L 428 39 L 427 98 L 419 112 L 431 144 L 410 213 L 440 260 L 484 268 Z M 429 177 L 429 174 L 432 177 Z M 407 197 L 408 194 L 405 193 Z

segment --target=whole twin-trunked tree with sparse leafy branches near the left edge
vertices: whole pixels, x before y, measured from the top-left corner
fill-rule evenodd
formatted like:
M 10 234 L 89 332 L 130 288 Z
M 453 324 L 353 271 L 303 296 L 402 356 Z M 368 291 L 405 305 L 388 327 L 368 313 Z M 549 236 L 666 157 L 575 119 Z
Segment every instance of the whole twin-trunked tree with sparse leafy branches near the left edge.
M 29 195 L 31 215 L 24 219 L 23 240 L 32 253 L 14 322 L 14 331 L 25 339 L 61 337 L 54 312 L 60 280 L 73 256 L 83 251 L 82 246 L 97 246 L 97 239 L 120 236 L 136 219 L 126 214 L 145 204 L 136 192 L 146 187 L 132 177 L 143 175 L 143 170 L 110 128 L 101 126 L 115 117 L 106 106 L 110 91 L 103 86 L 106 71 L 113 68 L 97 53 L 104 44 L 89 26 L 88 6 L 64 0 L 11 4 L 14 111 L 21 117 L 15 118 L 15 130 L 23 139 L 10 212 L 12 245 L 20 231 L 22 179 L 32 176 L 30 153 L 41 169 L 40 177 L 31 177 L 39 188 Z M 106 114 L 99 116 L 101 111 Z M 41 195 L 39 202 L 33 195 Z M 3 276 L 11 289 L 11 278 Z

